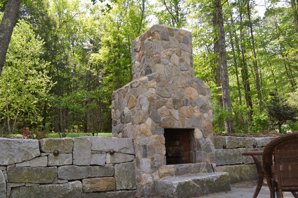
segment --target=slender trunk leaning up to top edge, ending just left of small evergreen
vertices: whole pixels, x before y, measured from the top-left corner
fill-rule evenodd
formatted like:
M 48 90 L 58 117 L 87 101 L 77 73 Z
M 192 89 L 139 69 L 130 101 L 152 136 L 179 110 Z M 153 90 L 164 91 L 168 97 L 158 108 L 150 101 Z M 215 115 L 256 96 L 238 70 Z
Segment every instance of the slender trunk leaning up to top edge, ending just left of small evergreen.
M 263 108 L 263 100 L 262 100 L 261 87 L 260 87 L 260 81 L 259 81 L 259 69 L 258 69 L 258 64 L 256 61 L 255 41 L 253 39 L 253 27 L 252 27 L 252 23 L 250 20 L 249 0 L 247 1 L 247 14 L 248 14 L 249 27 L 250 27 L 251 42 L 252 42 L 252 46 L 253 46 L 253 64 L 254 64 L 255 73 L 256 73 L 256 88 L 258 91 L 260 110 L 262 112 L 264 110 L 264 108 Z

